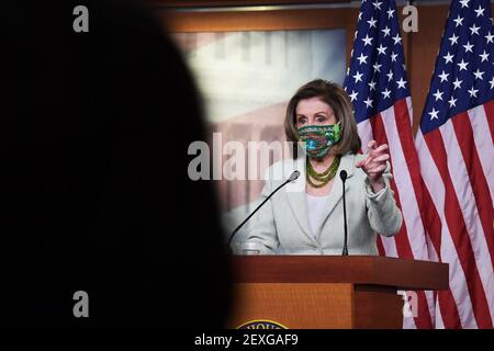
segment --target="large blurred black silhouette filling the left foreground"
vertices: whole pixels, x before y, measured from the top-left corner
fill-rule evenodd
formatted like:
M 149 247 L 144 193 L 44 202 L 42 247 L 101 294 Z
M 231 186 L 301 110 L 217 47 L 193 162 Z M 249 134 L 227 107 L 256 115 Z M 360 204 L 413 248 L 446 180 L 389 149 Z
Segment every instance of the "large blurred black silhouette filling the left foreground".
M 187 173 L 200 99 L 160 24 L 105 1 L 9 1 L 1 16 L 0 325 L 222 327 L 216 196 Z

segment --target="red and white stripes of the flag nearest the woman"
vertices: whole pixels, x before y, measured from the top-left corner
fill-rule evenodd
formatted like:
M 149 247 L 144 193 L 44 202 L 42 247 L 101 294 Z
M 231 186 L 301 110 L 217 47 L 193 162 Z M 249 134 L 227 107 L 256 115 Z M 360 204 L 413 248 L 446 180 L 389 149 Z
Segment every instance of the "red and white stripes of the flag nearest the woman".
M 403 226 L 392 238 L 379 237 L 381 254 L 428 260 L 426 230 L 423 224 L 422 183 L 411 125 L 409 98 L 398 100 L 390 109 L 359 123 L 362 145 L 374 139 L 388 144 L 393 179 L 391 188 L 403 213 Z M 398 189 L 401 191 L 398 191 Z M 418 317 L 404 318 L 404 328 L 433 328 L 435 315 L 434 293 L 418 293 Z

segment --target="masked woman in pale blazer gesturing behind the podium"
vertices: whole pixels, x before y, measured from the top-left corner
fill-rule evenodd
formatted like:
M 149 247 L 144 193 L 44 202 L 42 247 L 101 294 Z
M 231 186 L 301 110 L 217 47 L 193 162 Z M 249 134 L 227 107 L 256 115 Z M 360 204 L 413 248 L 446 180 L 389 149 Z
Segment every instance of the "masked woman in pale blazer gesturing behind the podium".
M 361 141 L 349 97 L 339 86 L 314 80 L 290 100 L 284 121 L 287 139 L 301 146 L 296 158 L 272 165 L 261 200 L 285 181 L 277 174 L 299 170 L 301 176 L 276 193 L 255 219 L 248 246 L 259 253 L 341 254 L 344 189 L 349 254 L 378 254 L 377 234 L 391 237 L 402 214 L 390 188 L 388 145 Z

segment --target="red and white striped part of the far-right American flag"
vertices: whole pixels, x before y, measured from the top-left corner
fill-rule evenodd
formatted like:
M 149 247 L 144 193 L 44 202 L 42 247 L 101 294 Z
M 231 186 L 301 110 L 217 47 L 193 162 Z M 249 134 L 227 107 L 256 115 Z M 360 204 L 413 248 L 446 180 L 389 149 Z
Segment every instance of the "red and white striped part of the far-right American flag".
M 449 263 L 450 290 L 438 293 L 436 327 L 493 328 L 493 125 L 491 101 L 415 138 L 429 247 Z

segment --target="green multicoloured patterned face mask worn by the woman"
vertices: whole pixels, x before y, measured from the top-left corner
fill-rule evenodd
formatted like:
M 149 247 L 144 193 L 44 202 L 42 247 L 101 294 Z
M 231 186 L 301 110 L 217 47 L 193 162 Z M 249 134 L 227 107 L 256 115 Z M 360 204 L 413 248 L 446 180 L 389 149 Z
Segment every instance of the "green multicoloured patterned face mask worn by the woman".
M 299 128 L 301 141 L 311 158 L 324 158 L 329 149 L 339 141 L 339 122 L 333 125 L 307 125 Z

